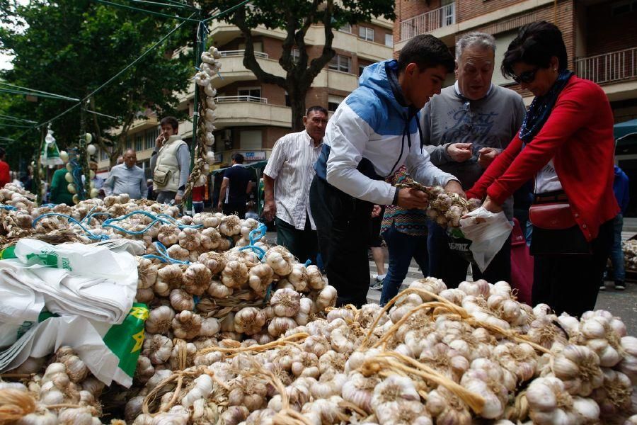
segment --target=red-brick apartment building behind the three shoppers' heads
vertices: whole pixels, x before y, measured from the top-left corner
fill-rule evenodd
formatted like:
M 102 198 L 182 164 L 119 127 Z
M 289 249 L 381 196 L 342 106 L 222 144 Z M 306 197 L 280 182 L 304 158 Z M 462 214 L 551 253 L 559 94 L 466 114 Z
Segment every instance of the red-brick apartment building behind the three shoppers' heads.
M 394 54 L 418 34 L 453 48 L 464 33 L 489 33 L 497 43 L 493 82 L 529 104 L 532 94 L 498 69 L 518 28 L 541 20 L 561 29 L 570 69 L 602 86 L 616 122 L 637 118 L 637 0 L 396 0 Z

